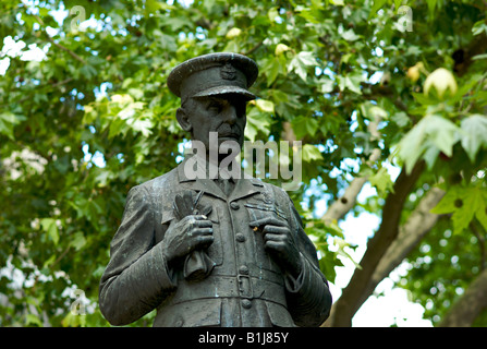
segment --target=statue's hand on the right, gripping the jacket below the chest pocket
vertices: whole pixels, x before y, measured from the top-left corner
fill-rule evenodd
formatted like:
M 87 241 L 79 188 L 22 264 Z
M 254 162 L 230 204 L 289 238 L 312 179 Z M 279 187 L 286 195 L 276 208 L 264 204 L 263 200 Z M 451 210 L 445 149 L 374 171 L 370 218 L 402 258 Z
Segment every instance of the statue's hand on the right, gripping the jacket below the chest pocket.
M 259 227 L 264 233 L 266 250 L 284 269 L 297 277 L 301 273 L 300 251 L 284 219 L 265 217 L 254 220 L 251 227 Z

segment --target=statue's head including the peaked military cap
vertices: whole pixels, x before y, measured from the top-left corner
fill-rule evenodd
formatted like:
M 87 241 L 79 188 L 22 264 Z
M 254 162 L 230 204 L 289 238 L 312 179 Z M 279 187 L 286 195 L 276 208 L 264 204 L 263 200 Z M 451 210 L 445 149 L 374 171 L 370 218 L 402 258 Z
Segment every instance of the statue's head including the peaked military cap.
M 169 89 L 181 97 L 176 119 L 181 128 L 209 148 L 209 133 L 219 145 L 235 141 L 242 147 L 246 103 L 256 96 L 248 88 L 257 79 L 257 64 L 238 53 L 210 53 L 190 59 L 169 74 Z

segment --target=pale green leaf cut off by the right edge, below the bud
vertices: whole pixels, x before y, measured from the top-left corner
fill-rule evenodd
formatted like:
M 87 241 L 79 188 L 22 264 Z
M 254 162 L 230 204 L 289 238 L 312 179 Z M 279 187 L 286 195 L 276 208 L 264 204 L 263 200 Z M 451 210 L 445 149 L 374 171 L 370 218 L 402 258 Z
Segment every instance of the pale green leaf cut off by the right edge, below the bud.
M 480 147 L 487 147 L 487 117 L 473 115 L 463 119 L 460 124 L 462 133 L 462 146 L 472 163 Z

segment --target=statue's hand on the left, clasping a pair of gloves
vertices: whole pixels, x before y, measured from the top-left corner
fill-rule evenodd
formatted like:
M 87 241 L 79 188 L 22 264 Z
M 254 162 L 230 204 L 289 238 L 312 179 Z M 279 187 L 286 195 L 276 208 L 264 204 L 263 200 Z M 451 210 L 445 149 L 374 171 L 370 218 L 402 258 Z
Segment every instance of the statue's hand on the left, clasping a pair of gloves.
M 166 231 L 162 240 L 168 262 L 183 257 L 194 250 L 208 248 L 214 242 L 212 224 L 204 215 L 190 215 Z

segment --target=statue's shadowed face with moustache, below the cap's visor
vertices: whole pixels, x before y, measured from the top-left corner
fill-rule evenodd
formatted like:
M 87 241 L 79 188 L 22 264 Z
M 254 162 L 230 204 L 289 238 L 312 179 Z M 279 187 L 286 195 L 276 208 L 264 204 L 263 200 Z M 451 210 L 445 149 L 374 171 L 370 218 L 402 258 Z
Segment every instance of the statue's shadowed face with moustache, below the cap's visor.
M 182 109 L 191 123 L 193 140 L 203 142 L 207 149 L 210 132 L 218 132 L 218 145 L 224 141 L 235 141 L 242 147 L 247 120 L 246 100 L 241 96 L 190 98 Z

